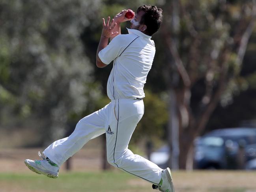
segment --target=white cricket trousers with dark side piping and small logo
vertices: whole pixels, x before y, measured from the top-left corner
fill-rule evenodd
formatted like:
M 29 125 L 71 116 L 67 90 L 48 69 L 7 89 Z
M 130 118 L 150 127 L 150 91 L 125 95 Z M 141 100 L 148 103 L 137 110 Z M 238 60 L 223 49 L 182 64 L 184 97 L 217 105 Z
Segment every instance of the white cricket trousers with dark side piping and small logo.
M 133 131 L 143 114 L 143 100 L 113 99 L 104 108 L 82 118 L 69 137 L 53 142 L 43 153 L 61 166 L 89 140 L 106 133 L 108 163 L 158 185 L 162 169 L 128 149 Z

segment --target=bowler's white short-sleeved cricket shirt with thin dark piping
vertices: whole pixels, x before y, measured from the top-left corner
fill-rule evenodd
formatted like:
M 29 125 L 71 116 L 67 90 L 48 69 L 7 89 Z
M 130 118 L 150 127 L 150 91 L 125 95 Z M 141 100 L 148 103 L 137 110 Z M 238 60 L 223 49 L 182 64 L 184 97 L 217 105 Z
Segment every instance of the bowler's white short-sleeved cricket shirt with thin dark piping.
M 116 36 L 99 52 L 103 63 L 114 60 L 107 84 L 109 99 L 145 97 L 143 88 L 155 56 L 155 43 L 139 30 L 127 30 L 129 34 Z

